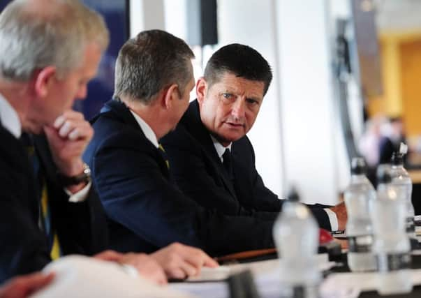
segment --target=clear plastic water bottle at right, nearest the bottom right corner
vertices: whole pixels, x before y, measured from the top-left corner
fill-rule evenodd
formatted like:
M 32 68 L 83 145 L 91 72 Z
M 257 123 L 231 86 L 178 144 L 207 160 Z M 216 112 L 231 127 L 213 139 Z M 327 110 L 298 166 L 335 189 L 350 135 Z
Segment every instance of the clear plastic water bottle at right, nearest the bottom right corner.
M 390 174 L 378 177 L 373 205 L 374 244 L 378 267 L 377 291 L 381 295 L 411 292 L 411 245 L 406 235 L 406 204 L 391 183 Z

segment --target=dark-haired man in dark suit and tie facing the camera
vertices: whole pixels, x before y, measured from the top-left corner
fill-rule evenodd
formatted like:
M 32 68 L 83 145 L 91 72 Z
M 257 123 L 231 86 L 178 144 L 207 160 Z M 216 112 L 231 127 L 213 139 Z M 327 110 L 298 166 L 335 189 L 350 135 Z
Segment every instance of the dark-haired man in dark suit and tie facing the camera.
M 263 184 L 246 136 L 271 80 L 270 66 L 256 50 L 222 47 L 196 84 L 198 99 L 161 140 L 177 185 L 198 204 L 232 216 L 268 219 L 281 210 L 283 200 Z M 321 228 L 344 229 L 344 204 L 309 207 Z

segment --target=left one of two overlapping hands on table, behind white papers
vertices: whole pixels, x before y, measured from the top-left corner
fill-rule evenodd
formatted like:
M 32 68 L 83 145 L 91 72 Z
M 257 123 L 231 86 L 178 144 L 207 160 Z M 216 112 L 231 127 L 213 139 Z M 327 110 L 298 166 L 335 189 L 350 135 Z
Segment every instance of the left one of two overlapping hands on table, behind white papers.
M 158 265 L 158 262 L 151 258 L 145 253 L 117 253 L 117 251 L 104 251 L 103 253 L 98 253 L 94 258 L 118 262 L 119 264 L 126 264 L 135 267 L 138 270 L 138 273 L 144 277 L 163 285 L 167 283 L 167 278 L 161 265 Z

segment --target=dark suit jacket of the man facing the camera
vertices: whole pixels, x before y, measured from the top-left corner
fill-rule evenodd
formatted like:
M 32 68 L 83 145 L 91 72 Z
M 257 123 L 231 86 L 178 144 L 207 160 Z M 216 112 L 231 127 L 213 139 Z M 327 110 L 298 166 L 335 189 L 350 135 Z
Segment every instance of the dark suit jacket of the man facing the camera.
M 279 214 L 283 200 L 263 184 L 249 138 L 244 136 L 232 142 L 234 179 L 230 179 L 202 124 L 197 100 L 190 103 L 176 130 L 163 137 L 161 143 L 177 185 L 198 204 L 234 216 L 273 220 Z M 323 208 L 309 207 L 320 227 L 330 230 Z

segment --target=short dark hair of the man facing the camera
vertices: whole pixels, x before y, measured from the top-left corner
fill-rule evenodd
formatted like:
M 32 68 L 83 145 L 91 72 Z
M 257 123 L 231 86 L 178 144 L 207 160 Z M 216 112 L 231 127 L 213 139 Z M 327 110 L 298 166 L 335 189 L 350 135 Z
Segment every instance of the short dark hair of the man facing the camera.
M 246 80 L 263 82 L 265 89 L 269 89 L 272 81 L 272 70 L 261 54 L 248 45 L 232 43 L 214 52 L 206 64 L 205 80 L 209 87 L 219 82 L 224 73 L 233 73 Z

